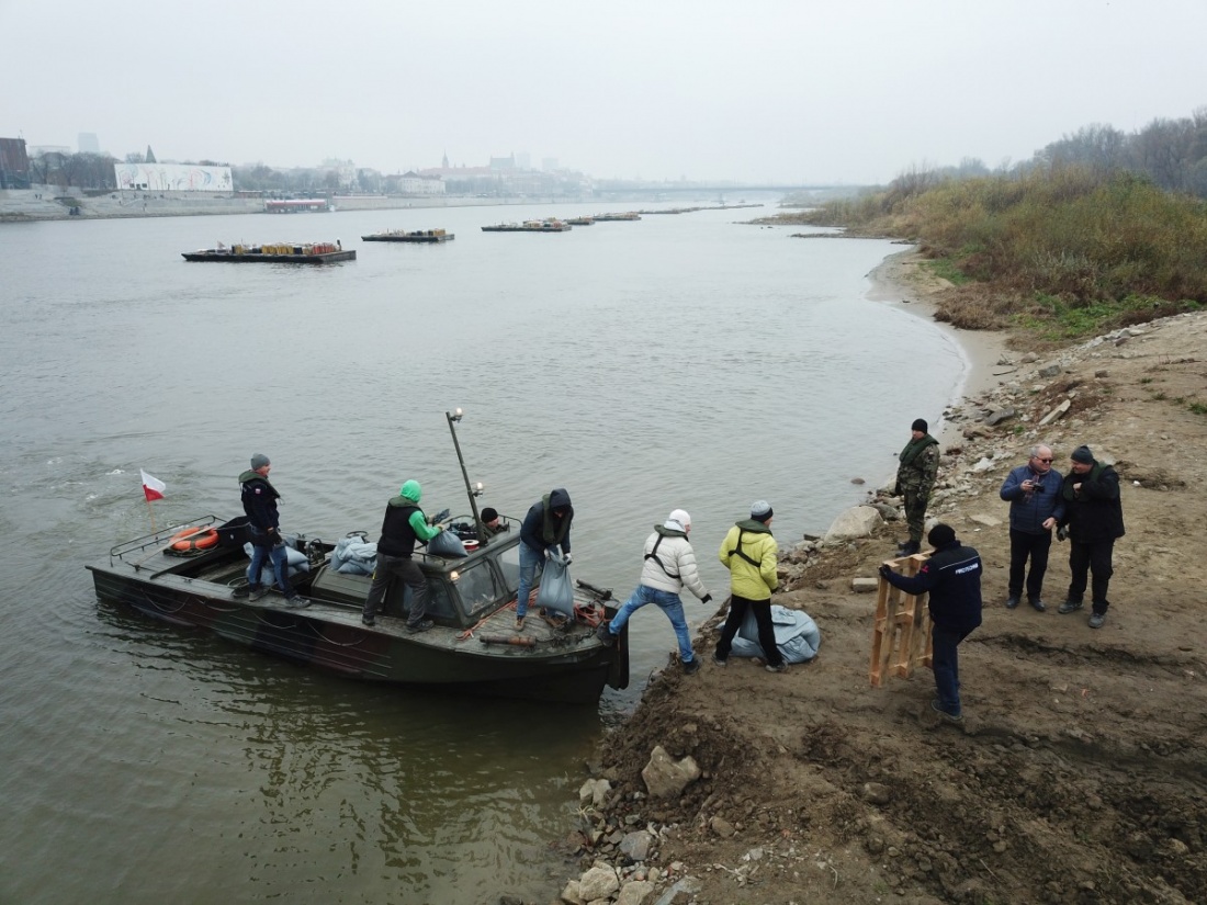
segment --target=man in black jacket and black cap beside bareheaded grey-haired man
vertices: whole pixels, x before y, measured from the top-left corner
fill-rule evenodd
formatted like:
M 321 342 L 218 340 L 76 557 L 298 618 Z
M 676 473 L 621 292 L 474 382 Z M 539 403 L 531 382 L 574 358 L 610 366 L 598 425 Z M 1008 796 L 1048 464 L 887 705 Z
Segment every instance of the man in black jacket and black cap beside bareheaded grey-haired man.
M 1059 613 L 1081 608 L 1089 573 L 1092 612 L 1090 627 L 1101 629 L 1107 620 L 1107 589 L 1110 586 L 1112 555 L 1115 541 L 1124 536 L 1124 507 L 1119 498 L 1119 474 L 1109 465 L 1095 460 L 1089 446 L 1073 450 L 1069 473 L 1065 475 L 1061 497 L 1065 515 L 1060 520 L 1069 539 L 1069 584 Z

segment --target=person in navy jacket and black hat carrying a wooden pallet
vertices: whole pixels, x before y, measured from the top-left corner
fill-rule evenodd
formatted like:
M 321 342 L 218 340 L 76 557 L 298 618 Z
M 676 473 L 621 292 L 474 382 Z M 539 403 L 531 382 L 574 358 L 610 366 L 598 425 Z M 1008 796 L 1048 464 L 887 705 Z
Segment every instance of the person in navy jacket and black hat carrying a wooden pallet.
M 964 718 L 960 703 L 960 642 L 981 624 L 980 554 L 964 547 L 950 525 L 938 524 L 926 539 L 934 548 L 916 576 L 903 576 L 888 565 L 880 577 L 906 594 L 928 594 L 931 611 L 931 665 L 939 696 L 931 708 L 958 722 Z

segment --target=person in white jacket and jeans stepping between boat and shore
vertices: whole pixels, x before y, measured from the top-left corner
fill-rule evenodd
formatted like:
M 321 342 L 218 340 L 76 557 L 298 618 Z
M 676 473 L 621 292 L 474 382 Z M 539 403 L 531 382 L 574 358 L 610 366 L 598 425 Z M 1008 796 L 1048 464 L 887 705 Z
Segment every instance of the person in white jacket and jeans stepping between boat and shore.
M 689 533 L 692 533 L 692 516 L 683 509 L 675 509 L 666 516 L 666 521 L 654 526 L 654 533 L 646 538 L 641 583 L 612 617 L 612 621 L 600 625 L 596 635 L 600 641 L 612 647 L 629 618 L 647 603 L 653 603 L 666 614 L 675 627 L 683 672 L 694 676 L 700 671 L 700 660 L 692 650 L 692 635 L 683 615 L 683 601 L 680 600 L 680 594 L 687 588 L 701 603 L 710 602 L 712 595 L 705 590 L 700 580 L 695 551 L 688 541 Z

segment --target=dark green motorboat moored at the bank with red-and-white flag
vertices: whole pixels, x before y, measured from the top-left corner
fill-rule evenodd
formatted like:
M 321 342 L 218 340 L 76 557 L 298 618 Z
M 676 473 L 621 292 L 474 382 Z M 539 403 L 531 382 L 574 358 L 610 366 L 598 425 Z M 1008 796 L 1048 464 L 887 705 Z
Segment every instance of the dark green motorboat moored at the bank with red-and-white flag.
M 455 431 L 461 411 L 445 415 L 461 459 Z M 466 475 L 463 459 L 461 469 Z M 611 590 L 579 580 L 573 615 L 530 606 L 517 630 L 520 521 L 501 516 L 502 530 L 491 535 L 474 501 L 480 490 L 471 491 L 467 477 L 466 490 L 470 513 L 445 510 L 437 520 L 466 538 L 467 555 L 415 554 L 428 582 L 427 618 L 436 623 L 420 634 L 406 630 L 406 588 L 398 582 L 386 591 L 375 625 L 365 625 L 371 576 L 339 571 L 338 545 L 317 537 L 286 537 L 291 557 L 304 562 L 291 583 L 310 600 L 308 607 L 287 607 L 275 590 L 255 602 L 235 596 L 246 584 L 246 516 L 210 514 L 152 531 L 117 544 L 88 570 L 103 601 L 348 678 L 568 703 L 596 703 L 605 687 L 626 688 L 628 631 L 612 647 L 595 635 L 616 614 Z

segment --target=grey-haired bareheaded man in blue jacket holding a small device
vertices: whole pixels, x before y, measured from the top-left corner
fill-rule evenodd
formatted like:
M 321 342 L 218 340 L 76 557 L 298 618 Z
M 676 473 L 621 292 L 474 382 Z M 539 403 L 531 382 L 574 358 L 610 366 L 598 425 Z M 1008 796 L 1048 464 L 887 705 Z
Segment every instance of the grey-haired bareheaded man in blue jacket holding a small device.
M 1050 446 L 1031 448 L 1026 465 L 1013 468 L 1002 483 L 1001 497 L 1010 503 L 1010 584 L 1005 608 L 1014 609 L 1022 599 L 1024 573 L 1027 559 L 1031 572 L 1026 574 L 1027 602 L 1043 613 L 1044 573 L 1048 551 L 1053 545 L 1053 529 L 1065 518 L 1061 496 L 1063 478 L 1053 471 Z

